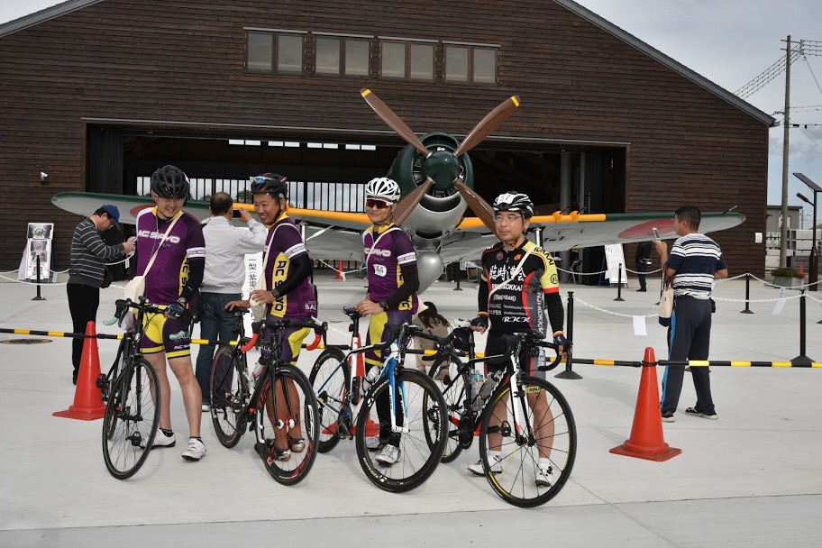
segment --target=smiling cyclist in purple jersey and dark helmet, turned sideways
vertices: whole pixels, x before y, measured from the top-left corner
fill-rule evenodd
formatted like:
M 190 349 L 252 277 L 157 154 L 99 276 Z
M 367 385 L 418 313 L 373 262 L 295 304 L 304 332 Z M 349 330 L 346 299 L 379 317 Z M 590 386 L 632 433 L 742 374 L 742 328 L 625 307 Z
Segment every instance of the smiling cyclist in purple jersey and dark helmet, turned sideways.
M 288 179 L 276 173 L 252 177 L 251 194 L 254 196 L 254 211 L 260 216 L 263 224 L 269 225 L 269 234 L 263 251 L 264 255 L 268 256 L 263 265 L 265 289 L 253 289 L 251 298 L 267 305 L 266 315 L 269 321 L 284 317 L 307 321 L 317 313 L 316 294 L 310 280 L 314 269 L 302 235 L 288 216 Z M 249 301 L 232 301 L 225 307 L 232 310 L 234 306 L 248 307 L 250 304 Z M 311 329 L 308 327 L 286 329 L 283 332 L 280 359 L 297 365 L 303 339 L 310 332 Z M 264 338 L 269 337 L 270 333 L 264 333 Z M 285 382 L 288 387 L 288 400 L 299 401 L 294 382 L 291 379 Z M 277 415 L 288 416 L 288 400 L 282 386 L 278 383 L 276 389 Z M 273 418 L 274 409 L 269 408 L 268 412 L 271 423 L 276 424 L 277 421 Z M 273 451 L 278 461 L 288 461 L 292 452 L 303 452 L 306 449 L 300 423 L 295 423 L 288 433 L 281 428 L 274 428 L 273 441 L 269 439 L 266 442 L 268 451 Z

